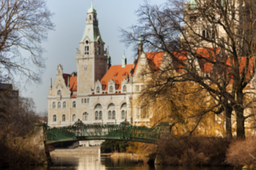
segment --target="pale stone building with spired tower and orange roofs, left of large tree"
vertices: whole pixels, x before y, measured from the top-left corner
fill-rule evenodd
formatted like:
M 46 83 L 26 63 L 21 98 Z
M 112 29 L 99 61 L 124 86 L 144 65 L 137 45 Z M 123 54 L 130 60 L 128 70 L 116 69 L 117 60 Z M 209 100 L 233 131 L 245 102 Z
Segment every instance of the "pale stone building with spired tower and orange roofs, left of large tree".
M 104 50 L 97 12 L 93 5 L 87 11 L 86 26 L 76 51 L 77 72 L 63 73 L 57 66 L 56 79 L 48 92 L 48 125 L 72 125 L 78 119 L 85 124 L 119 124 L 127 120 L 133 125 L 149 125 L 152 115 L 137 102 L 143 88 L 141 70 L 147 65 L 143 44 L 133 64 L 111 65 Z M 121 62 L 120 62 L 121 63 Z

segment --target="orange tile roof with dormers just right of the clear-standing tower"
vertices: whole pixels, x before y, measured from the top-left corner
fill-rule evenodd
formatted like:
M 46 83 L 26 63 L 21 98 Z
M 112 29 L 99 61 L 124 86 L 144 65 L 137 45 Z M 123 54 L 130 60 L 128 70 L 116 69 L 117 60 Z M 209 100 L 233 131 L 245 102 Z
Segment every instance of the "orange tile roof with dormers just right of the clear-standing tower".
M 115 82 L 115 89 L 121 89 L 121 82 L 126 78 L 126 74 L 128 73 L 130 77 L 130 70 L 133 68 L 133 64 L 127 64 L 125 67 L 122 65 L 113 65 L 109 68 L 109 70 L 105 73 L 103 78 L 101 79 L 102 90 L 108 89 L 108 82 L 112 79 Z

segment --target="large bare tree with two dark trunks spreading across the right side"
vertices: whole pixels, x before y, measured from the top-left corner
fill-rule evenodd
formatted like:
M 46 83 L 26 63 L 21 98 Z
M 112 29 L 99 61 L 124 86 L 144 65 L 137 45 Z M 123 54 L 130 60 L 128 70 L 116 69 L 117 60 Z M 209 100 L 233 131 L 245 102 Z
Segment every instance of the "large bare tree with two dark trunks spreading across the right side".
M 227 138 L 232 137 L 232 111 L 237 136 L 244 138 L 244 111 L 255 102 L 244 100 L 252 94 L 245 89 L 255 75 L 255 9 L 255 0 L 169 0 L 162 6 L 140 6 L 139 24 L 122 32 L 127 44 L 141 37 L 145 49 L 165 54 L 157 76 L 156 70 L 144 72 L 160 79 L 151 96 L 165 94 L 175 83 L 193 82 L 212 96 L 213 112 L 225 113 Z

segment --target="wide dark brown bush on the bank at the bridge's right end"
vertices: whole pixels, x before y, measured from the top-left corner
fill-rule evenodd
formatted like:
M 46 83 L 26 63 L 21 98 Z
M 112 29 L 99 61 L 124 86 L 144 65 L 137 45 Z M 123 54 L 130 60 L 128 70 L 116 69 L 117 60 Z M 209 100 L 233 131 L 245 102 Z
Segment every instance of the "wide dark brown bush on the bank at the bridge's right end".
M 228 143 L 223 138 L 168 138 L 158 147 L 157 164 L 224 165 Z

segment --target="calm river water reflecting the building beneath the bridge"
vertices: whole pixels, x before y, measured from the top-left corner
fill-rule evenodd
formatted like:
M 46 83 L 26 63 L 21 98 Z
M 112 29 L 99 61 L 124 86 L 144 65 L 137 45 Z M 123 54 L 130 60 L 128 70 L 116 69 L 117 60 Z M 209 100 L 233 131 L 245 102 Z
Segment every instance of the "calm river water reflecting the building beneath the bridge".
M 147 165 L 132 156 L 111 158 L 109 155 L 100 155 L 98 149 L 55 150 L 51 153 L 51 167 L 10 167 L 6 170 L 233 170 L 232 167 Z

